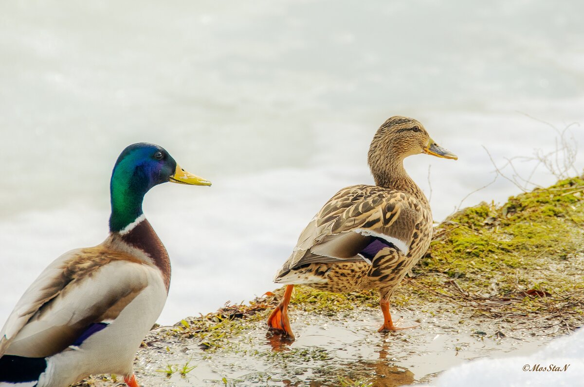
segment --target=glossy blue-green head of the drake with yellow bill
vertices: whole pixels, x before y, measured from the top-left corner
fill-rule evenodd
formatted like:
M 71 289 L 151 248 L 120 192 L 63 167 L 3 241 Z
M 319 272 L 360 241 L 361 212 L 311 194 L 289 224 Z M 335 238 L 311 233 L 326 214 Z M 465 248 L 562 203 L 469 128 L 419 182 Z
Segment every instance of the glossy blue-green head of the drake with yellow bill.
M 110 182 L 112 215 L 110 232 L 122 231 L 142 215 L 142 200 L 152 187 L 166 182 L 210 186 L 176 163 L 164 148 L 140 142 L 132 144 L 117 158 Z

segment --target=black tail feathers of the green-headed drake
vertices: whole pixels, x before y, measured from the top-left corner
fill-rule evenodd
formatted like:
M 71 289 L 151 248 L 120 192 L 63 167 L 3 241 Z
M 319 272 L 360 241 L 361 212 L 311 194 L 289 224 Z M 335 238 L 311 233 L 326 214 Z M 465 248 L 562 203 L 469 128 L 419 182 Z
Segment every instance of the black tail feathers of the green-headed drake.
M 44 357 L 0 357 L 0 387 L 33 387 L 47 369 Z

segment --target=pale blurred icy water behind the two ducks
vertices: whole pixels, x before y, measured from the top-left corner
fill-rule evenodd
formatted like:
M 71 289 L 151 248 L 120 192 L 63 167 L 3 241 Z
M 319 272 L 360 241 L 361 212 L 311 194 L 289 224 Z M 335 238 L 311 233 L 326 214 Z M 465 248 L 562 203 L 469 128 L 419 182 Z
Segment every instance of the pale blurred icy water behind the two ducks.
M 273 290 L 321 205 L 373 182 L 367 148 L 390 116 L 460 157 L 406 160 L 440 221 L 495 177 L 483 146 L 503 165 L 554 149 L 531 117 L 584 122 L 582 15 L 543 0 L 2 2 L 0 323 L 51 260 L 105 238 L 133 142 L 214 183 L 145 200 L 173 265 L 161 323 Z M 498 179 L 462 204 L 519 191 Z

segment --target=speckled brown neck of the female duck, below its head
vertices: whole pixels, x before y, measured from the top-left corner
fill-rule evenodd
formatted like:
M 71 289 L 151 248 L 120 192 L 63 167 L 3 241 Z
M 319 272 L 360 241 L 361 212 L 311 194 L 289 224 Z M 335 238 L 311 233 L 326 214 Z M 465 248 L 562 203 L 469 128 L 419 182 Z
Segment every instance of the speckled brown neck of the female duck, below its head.
M 375 184 L 380 187 L 404 191 L 427 204 L 428 200 L 418 184 L 414 183 L 404 168 L 404 158 L 388 155 L 383 160 L 369 160 Z

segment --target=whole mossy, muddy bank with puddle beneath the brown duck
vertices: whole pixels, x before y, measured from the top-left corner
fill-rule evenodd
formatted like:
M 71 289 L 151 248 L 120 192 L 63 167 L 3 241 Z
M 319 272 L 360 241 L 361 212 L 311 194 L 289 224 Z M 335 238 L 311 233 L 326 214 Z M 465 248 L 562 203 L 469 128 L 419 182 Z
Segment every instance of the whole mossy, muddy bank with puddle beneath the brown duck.
M 500 207 L 466 208 L 435 229 L 429 251 L 392 297 L 392 314 L 421 322 L 418 329 L 377 333 L 376 292 L 298 286 L 290 343 L 266 334 L 281 288 L 153 330 L 137 355 L 138 379 L 169 386 L 429 381 L 466 358 L 535 348 L 581 326 L 583 264 L 584 179 L 562 180 Z M 112 378 L 85 383 L 116 385 Z

